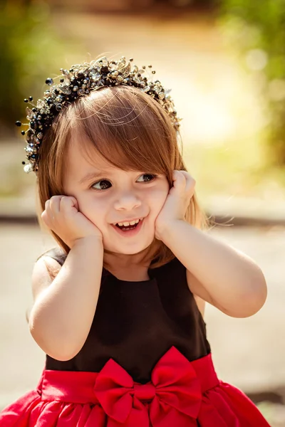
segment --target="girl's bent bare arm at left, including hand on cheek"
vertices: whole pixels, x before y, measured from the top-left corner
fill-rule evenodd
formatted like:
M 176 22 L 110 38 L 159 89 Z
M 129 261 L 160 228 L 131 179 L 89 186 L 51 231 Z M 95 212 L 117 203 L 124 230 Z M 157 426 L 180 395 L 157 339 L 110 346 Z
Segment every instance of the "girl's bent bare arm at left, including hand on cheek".
M 44 223 L 71 251 L 54 280 L 48 273 L 53 260 L 40 258 L 36 263 L 29 326 L 44 352 L 68 360 L 81 350 L 92 325 L 103 269 L 103 236 L 81 214 L 73 196 L 53 196 L 45 208 Z

